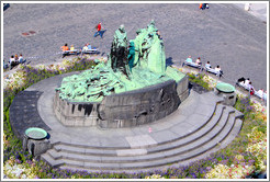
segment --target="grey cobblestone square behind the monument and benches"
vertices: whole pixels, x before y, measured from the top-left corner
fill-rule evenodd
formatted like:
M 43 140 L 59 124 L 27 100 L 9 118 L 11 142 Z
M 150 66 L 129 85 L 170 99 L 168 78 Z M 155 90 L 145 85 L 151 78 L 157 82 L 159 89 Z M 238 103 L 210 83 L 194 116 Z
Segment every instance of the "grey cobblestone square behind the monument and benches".
M 127 38 L 156 21 L 167 59 L 180 66 L 189 55 L 224 70 L 224 81 L 249 77 L 256 89 L 267 89 L 267 24 L 230 3 L 11 3 L 3 12 L 3 57 L 22 53 L 31 64 L 59 59 L 65 43 L 90 43 L 103 55 L 110 52 L 115 30 L 124 24 Z M 104 37 L 93 37 L 98 22 Z M 32 36 L 22 33 L 34 31 Z M 31 57 L 40 57 L 32 58 Z

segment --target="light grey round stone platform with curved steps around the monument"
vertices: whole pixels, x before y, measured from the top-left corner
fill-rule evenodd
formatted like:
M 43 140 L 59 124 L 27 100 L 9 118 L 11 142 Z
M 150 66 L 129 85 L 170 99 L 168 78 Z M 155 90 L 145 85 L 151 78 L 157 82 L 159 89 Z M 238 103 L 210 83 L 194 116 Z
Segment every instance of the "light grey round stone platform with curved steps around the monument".
M 217 144 L 229 144 L 241 126 L 236 122 L 241 113 L 221 104 L 221 98 L 191 90 L 176 112 L 150 124 L 131 128 L 67 127 L 53 114 L 53 91 L 58 83 L 49 78 L 23 92 L 41 93 L 33 96 L 34 113 L 50 128 L 45 130 L 52 145 L 41 157 L 53 167 L 134 172 L 182 166 L 218 150 Z M 29 96 L 19 98 L 23 103 Z

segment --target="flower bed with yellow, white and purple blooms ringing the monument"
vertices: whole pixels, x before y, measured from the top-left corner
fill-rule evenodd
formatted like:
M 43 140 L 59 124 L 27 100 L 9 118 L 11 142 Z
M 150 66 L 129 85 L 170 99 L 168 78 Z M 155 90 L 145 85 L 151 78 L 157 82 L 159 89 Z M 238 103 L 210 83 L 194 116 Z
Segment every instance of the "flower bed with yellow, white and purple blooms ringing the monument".
M 23 152 L 21 141 L 13 135 L 9 124 L 9 106 L 14 95 L 33 83 L 69 71 L 89 69 L 95 64 L 89 59 L 64 60 L 60 65 L 21 66 L 4 78 L 3 82 L 3 162 L 4 173 L 14 179 L 240 179 L 254 178 L 267 167 L 267 113 L 263 106 L 237 94 L 235 107 L 245 114 L 239 135 L 226 148 L 207 159 L 185 167 L 138 173 L 105 173 L 53 169 L 43 161 Z M 183 70 L 182 70 L 183 71 Z M 184 71 L 183 71 L 184 72 Z M 217 81 L 209 76 L 190 72 L 199 84 L 213 89 Z

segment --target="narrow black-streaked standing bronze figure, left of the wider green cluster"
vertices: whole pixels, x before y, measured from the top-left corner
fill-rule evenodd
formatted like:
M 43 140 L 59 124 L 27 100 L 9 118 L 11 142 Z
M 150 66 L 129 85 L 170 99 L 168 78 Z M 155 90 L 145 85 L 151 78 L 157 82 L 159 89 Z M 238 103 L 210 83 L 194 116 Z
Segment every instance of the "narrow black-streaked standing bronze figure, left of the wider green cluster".
M 127 62 L 128 42 L 124 25 L 115 31 L 112 47 L 111 47 L 111 67 L 113 71 L 122 71 L 127 77 L 130 76 L 130 67 Z

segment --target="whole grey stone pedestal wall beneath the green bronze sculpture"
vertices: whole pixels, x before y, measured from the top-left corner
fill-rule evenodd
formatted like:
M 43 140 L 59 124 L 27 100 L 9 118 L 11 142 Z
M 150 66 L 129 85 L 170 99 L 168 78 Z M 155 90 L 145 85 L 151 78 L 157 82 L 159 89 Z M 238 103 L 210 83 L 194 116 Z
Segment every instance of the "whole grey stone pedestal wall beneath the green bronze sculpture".
M 176 111 L 189 95 L 189 79 L 111 94 L 100 103 L 69 102 L 56 91 L 54 110 L 65 126 L 132 127 L 155 122 Z

